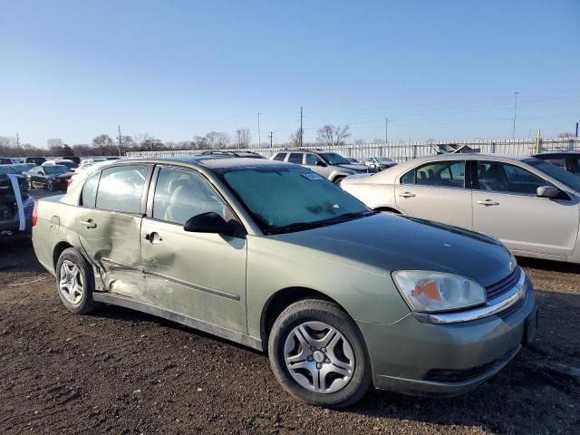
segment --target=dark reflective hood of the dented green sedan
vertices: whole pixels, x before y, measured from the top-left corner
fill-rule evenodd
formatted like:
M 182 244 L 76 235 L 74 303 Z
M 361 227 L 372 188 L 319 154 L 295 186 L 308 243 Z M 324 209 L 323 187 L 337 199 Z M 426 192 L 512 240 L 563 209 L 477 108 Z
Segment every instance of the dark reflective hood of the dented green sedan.
M 371 272 L 378 269 L 385 275 L 395 270 L 429 270 L 466 276 L 488 286 L 513 270 L 509 251 L 495 238 L 387 213 L 275 237 L 335 256 L 338 263 Z

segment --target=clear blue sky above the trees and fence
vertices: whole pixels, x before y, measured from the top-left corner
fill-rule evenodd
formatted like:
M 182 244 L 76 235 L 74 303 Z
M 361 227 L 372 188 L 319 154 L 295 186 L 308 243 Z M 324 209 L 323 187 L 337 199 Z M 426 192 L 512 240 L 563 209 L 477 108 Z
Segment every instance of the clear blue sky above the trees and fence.
M 0 135 L 507 138 L 580 121 L 580 0 L 0 0 Z

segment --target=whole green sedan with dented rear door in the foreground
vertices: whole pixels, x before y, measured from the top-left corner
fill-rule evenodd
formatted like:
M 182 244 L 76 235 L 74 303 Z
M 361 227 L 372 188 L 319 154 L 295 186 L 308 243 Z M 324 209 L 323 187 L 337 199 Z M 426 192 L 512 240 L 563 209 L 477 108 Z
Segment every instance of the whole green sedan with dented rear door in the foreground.
M 536 331 L 534 288 L 496 238 L 372 211 L 290 163 L 119 160 L 33 220 L 69 311 L 121 305 L 266 352 L 314 405 L 469 391 Z

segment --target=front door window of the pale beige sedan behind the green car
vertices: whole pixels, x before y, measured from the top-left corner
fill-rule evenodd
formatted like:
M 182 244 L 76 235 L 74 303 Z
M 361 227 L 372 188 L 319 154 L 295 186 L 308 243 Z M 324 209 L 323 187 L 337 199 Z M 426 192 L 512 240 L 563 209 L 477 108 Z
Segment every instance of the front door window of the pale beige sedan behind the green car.
M 494 190 L 536 195 L 536 189 L 549 183 L 536 175 L 507 163 L 495 161 L 478 162 L 479 190 Z

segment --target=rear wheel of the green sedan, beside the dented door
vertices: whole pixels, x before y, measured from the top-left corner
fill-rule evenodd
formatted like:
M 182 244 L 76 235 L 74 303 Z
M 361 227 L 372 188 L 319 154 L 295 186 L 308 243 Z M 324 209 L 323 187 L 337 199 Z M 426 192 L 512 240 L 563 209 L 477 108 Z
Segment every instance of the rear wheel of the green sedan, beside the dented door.
M 69 279 L 63 276 L 65 273 Z M 92 269 L 73 247 L 64 249 L 56 263 L 56 290 L 64 307 L 71 313 L 87 314 L 100 306 L 92 300 Z

